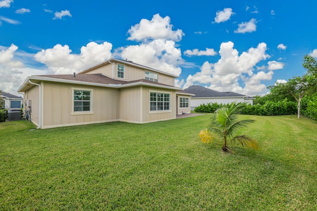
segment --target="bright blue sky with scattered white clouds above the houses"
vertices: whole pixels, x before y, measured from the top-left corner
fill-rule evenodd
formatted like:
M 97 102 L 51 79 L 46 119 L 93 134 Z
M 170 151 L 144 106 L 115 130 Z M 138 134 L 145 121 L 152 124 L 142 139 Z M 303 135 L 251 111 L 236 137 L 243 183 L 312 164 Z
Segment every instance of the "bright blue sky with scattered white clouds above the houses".
M 110 57 L 179 76 L 175 85 L 263 95 L 317 57 L 315 0 L 0 0 L 0 90 Z

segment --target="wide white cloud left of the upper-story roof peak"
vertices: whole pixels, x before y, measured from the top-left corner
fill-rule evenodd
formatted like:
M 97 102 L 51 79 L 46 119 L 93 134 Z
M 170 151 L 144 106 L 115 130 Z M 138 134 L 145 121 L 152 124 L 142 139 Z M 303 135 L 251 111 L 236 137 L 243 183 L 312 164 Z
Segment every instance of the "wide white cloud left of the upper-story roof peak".
M 90 42 L 81 47 L 80 54 L 73 54 L 67 45 L 57 44 L 53 49 L 42 50 L 35 54 L 35 60 L 47 65 L 55 74 L 71 74 L 111 57 L 112 44 Z

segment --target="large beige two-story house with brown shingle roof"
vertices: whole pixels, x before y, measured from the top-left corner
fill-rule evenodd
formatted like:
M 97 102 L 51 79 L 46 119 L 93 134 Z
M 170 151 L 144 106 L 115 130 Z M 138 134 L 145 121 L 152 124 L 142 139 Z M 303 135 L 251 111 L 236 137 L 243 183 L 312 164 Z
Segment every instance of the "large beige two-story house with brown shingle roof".
M 110 58 L 78 74 L 28 77 L 27 116 L 39 128 L 110 121 L 148 123 L 190 113 L 192 94 L 176 76 L 132 61 Z

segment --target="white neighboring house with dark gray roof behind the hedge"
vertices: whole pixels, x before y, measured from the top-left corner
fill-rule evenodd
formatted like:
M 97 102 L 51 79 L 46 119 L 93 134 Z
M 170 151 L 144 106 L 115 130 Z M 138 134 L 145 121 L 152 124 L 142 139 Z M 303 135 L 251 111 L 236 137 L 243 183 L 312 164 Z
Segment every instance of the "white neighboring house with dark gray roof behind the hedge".
M 247 102 L 253 105 L 255 99 L 234 92 L 217 92 L 202 86 L 190 86 L 184 91 L 195 95 L 191 98 L 191 110 L 208 103 L 228 104 L 235 101 L 237 103 Z

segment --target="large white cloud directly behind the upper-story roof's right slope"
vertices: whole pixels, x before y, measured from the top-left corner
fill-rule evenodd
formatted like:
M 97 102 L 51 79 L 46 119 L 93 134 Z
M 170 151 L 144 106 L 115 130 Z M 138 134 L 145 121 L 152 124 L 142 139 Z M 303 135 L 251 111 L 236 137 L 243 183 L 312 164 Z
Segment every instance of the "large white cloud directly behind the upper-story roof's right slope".
M 123 59 L 152 67 L 176 76 L 182 69 L 179 64 L 183 62 L 180 49 L 175 48 L 172 40 L 154 40 L 135 46 L 117 49 L 117 55 Z

